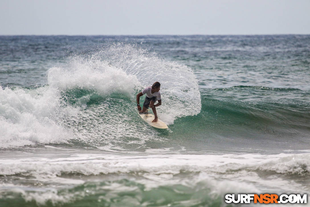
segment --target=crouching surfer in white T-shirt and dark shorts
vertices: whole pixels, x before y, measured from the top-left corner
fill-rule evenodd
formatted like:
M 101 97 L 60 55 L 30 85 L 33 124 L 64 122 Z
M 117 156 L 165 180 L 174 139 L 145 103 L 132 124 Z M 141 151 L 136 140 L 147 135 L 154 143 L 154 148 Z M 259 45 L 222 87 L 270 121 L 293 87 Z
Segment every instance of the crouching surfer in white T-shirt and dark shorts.
M 152 122 L 157 122 L 158 121 L 158 117 L 157 117 L 157 113 L 156 113 L 156 108 L 157 106 L 162 105 L 162 98 L 160 95 L 160 83 L 159 82 L 155 82 L 152 86 L 148 86 L 145 89 L 142 90 L 142 92 L 140 92 L 137 95 L 137 106 L 138 106 L 138 110 L 140 113 L 144 113 L 147 112 L 148 107 L 151 107 L 154 113 L 154 120 Z M 143 103 L 143 108 L 141 110 L 140 107 L 140 96 L 145 95 L 145 100 Z M 158 101 L 158 104 L 155 104 L 155 102 Z M 155 104 L 155 105 L 154 105 Z

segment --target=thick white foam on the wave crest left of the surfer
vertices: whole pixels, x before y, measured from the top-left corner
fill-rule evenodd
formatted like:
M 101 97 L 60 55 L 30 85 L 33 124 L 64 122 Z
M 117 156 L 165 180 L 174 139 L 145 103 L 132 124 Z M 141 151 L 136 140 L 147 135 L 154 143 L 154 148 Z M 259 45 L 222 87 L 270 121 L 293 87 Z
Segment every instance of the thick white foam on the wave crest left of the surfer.
M 95 90 L 99 95 L 112 93 L 132 95 L 139 85 L 133 75 L 126 75 L 106 61 L 98 59 L 71 58 L 65 68 L 54 67 L 47 71 L 47 82 L 54 88 Z

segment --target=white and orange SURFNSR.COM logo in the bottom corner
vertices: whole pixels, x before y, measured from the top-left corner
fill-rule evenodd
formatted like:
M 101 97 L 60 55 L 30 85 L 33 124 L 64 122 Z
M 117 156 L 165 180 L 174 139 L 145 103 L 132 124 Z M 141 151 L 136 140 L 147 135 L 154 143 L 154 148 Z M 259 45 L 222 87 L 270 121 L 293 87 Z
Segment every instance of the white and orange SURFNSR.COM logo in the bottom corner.
M 307 203 L 307 194 L 227 194 L 226 203 Z

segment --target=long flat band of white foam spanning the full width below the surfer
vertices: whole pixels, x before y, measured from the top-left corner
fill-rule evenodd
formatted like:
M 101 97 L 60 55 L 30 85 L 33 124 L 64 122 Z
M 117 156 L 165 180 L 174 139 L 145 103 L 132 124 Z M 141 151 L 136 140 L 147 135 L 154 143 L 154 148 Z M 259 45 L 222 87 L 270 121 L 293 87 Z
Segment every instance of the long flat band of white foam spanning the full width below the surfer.
M 237 171 L 274 171 L 309 173 L 310 154 L 278 155 L 145 155 L 113 156 L 73 154 L 69 158 L 1 159 L 0 175 L 56 177 L 62 173 L 98 175 L 108 173 L 178 174 L 181 172 L 233 173 Z

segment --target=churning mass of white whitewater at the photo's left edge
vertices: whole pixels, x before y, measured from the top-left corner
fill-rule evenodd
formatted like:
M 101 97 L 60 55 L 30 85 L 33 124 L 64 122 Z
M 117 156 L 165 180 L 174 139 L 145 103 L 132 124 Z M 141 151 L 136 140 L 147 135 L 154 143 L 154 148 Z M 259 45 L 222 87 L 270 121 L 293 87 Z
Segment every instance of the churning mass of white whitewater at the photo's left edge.
M 60 107 L 58 92 L 49 86 L 35 90 L 0 89 L 0 147 L 66 142 L 61 117 L 74 113 Z

